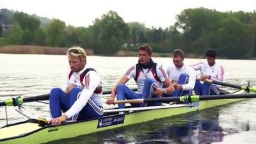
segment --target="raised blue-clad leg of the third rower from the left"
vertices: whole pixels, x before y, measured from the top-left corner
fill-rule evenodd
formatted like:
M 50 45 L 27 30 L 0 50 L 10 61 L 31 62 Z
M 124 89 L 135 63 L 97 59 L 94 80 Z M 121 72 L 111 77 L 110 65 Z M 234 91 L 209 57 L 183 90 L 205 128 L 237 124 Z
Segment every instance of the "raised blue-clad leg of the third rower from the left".
M 186 74 L 180 74 L 178 84 L 188 83 L 188 76 Z M 174 90 L 172 97 L 180 97 L 181 95 L 191 95 L 190 90 Z

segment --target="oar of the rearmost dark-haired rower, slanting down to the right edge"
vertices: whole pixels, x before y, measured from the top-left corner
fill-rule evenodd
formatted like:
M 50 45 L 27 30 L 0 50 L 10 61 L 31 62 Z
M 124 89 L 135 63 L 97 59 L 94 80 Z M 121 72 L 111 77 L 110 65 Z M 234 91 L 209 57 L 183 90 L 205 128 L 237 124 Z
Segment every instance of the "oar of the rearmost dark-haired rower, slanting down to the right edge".
M 230 83 L 224 83 L 222 81 L 214 81 L 212 79 L 197 79 L 199 81 L 204 81 L 206 83 L 213 83 L 213 84 L 218 84 L 221 86 L 228 86 L 230 88 L 238 88 L 240 90 L 244 90 L 245 92 L 256 92 L 256 87 L 250 87 L 250 86 L 241 86 L 241 85 L 237 85 L 237 84 L 230 84 Z

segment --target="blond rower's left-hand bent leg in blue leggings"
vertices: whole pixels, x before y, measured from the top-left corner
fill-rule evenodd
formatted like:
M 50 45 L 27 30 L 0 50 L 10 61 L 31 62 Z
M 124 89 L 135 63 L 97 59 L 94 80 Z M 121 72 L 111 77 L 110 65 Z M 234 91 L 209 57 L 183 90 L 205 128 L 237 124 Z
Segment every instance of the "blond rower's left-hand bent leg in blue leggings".
M 49 102 L 51 117 L 57 118 L 61 116 L 61 110 L 65 112 L 69 109 L 70 99 L 60 88 L 52 88 Z

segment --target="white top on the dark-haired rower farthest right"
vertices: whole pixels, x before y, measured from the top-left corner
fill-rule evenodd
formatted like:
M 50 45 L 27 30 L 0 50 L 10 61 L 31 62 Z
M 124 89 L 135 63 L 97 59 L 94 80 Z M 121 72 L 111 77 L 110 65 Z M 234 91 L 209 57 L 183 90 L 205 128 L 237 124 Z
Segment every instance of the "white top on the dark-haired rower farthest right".
M 195 65 L 192 65 L 192 67 L 195 70 L 200 70 L 201 76 L 209 75 L 211 76 L 211 79 L 214 81 L 224 81 L 224 68 L 218 63 L 215 63 L 212 66 L 209 66 L 208 63 L 201 62 Z

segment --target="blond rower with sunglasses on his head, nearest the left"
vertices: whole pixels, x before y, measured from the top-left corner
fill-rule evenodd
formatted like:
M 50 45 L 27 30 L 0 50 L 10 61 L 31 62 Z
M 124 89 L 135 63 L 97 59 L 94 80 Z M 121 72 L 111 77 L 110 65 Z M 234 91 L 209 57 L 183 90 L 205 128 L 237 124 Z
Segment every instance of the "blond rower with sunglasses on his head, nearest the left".
M 81 47 L 67 51 L 70 69 L 64 88 L 53 88 L 50 94 L 51 124 L 69 120 L 87 120 L 103 115 L 100 76 L 86 65 L 86 52 Z M 63 112 L 63 114 L 61 114 Z

